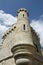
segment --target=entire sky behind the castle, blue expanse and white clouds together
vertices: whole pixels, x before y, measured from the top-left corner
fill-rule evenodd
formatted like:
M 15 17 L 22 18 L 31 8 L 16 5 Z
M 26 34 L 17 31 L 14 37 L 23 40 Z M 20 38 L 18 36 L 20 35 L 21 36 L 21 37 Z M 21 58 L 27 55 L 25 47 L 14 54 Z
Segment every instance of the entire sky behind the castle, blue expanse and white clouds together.
M 17 22 L 17 11 L 26 8 L 30 25 L 40 37 L 43 46 L 43 0 L 0 0 L 0 43 L 3 33 Z

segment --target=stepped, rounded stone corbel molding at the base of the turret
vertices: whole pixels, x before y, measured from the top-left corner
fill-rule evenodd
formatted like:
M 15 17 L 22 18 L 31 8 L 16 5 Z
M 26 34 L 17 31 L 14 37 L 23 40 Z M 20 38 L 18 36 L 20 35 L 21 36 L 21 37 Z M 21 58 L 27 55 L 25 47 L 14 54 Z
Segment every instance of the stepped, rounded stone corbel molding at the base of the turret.
M 31 45 L 27 45 L 27 44 L 20 44 L 20 45 L 14 46 L 11 49 L 11 52 L 13 53 L 13 56 L 17 65 L 32 63 L 31 54 L 34 54 L 34 52 L 32 51 L 32 48 L 34 49 L 34 52 L 35 52 L 35 47 Z

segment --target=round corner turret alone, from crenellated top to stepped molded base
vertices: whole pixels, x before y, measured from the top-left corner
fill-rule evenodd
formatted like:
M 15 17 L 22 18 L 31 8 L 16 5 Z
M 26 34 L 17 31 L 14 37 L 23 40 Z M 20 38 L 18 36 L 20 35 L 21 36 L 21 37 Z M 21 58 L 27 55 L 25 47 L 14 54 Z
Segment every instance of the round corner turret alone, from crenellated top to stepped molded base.
M 27 10 L 21 8 L 18 11 L 17 19 L 18 30 L 17 34 L 15 35 L 15 38 L 17 40 L 14 43 L 14 46 L 12 47 L 11 51 L 14 55 L 16 64 L 21 65 L 31 63 L 31 60 L 29 59 L 29 54 L 31 54 L 31 52 L 34 54 L 34 52 L 36 51 L 32 41 L 31 28 L 28 20 Z

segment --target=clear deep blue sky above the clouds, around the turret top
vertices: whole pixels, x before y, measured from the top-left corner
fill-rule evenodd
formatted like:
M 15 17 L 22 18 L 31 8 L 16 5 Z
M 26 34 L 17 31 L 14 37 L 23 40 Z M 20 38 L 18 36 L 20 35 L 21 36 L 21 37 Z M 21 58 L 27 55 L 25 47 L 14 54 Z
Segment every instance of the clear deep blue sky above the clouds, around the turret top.
M 43 0 L 0 0 L 0 9 L 16 16 L 19 8 L 27 8 L 30 19 L 39 18 L 43 14 Z

